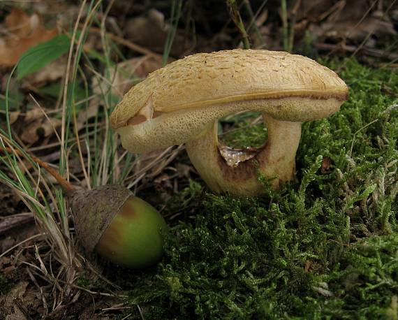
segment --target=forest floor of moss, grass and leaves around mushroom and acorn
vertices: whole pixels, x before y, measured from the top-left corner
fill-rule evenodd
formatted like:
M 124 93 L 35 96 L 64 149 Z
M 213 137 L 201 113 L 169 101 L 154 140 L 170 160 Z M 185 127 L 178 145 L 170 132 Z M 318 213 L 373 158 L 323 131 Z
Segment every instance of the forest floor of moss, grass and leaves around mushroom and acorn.
M 75 2 L 0 3 L 1 319 L 398 319 L 396 1 Z M 122 149 L 108 117 L 132 85 L 248 44 L 304 54 L 348 85 L 339 112 L 302 124 L 295 181 L 216 195 L 184 145 Z M 267 129 L 243 112 L 219 137 L 260 146 Z M 29 154 L 75 186 L 122 184 L 151 203 L 170 226 L 162 260 L 84 256 Z

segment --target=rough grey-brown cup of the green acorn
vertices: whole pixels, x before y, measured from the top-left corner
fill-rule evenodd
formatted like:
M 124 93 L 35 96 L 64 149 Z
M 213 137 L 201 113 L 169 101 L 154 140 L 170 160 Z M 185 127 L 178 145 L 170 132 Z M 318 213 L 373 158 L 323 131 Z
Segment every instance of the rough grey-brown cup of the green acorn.
M 93 252 L 101 235 L 133 193 L 116 184 L 81 189 L 71 196 L 75 230 L 87 252 Z

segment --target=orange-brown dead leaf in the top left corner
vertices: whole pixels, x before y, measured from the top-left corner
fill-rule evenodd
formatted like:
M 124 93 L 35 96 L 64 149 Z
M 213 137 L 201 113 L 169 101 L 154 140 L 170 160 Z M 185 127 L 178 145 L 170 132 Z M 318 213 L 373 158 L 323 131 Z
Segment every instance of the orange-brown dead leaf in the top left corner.
M 40 15 L 27 15 L 13 8 L 6 17 L 10 36 L 0 38 L 0 66 L 13 66 L 21 55 L 38 43 L 49 41 L 59 33 L 56 28 L 47 30 Z

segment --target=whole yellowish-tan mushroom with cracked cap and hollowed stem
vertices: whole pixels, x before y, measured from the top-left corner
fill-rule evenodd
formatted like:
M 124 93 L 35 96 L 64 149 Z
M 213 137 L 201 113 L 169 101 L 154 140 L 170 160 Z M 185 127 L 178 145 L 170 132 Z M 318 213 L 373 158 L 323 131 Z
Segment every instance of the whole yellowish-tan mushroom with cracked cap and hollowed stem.
M 125 94 L 110 122 L 126 150 L 142 153 L 185 143 L 212 191 L 253 196 L 263 192 L 259 173 L 275 189 L 293 180 L 302 122 L 332 115 L 347 95 L 336 73 L 307 57 L 223 50 L 193 54 L 154 71 Z M 262 113 L 265 144 L 255 152 L 220 145 L 217 120 L 247 110 Z

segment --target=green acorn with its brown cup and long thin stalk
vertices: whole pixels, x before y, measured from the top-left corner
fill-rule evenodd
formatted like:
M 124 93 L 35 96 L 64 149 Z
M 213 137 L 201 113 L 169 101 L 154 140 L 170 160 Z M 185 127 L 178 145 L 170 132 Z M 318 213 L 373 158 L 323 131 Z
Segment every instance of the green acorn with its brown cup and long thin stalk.
M 23 156 L 17 150 L 6 150 Z M 112 263 L 135 269 L 152 266 L 161 259 L 163 232 L 168 226 L 152 205 L 116 184 L 75 189 L 48 163 L 30 156 L 64 189 L 76 235 L 87 254 L 96 252 Z

